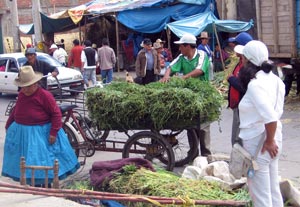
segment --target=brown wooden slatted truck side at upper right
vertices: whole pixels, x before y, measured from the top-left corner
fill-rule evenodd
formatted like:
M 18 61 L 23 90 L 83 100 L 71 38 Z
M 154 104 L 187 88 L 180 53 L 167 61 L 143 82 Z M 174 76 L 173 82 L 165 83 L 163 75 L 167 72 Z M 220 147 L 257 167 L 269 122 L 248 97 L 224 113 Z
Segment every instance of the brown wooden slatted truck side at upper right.
M 296 1 L 256 0 L 258 38 L 268 46 L 270 57 L 291 58 L 297 56 Z M 258 9 L 257 9 L 258 10 Z

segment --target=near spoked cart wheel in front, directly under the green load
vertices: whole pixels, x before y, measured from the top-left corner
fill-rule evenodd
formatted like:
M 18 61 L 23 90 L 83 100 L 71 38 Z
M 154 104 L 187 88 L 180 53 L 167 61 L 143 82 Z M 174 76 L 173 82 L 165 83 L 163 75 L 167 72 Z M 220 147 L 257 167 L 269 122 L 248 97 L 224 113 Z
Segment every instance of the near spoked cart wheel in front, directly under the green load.
M 169 171 L 174 168 L 174 153 L 171 145 L 150 131 L 132 135 L 124 145 L 122 156 L 123 158 L 142 157 Z

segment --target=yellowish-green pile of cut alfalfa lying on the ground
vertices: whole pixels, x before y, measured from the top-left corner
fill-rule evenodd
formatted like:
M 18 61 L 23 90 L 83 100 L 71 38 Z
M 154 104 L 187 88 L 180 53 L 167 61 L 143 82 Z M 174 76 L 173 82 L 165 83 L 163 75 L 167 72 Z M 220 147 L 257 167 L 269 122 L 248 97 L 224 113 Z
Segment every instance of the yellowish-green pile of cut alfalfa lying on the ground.
M 115 174 L 114 178 L 102 190 L 113 193 L 182 198 L 187 201 L 235 200 L 243 201 L 250 205 L 251 199 L 245 189 L 230 191 L 223 189 L 219 183 L 214 181 L 182 178 L 162 169 L 153 172 L 145 168 L 136 169 L 134 165 L 127 165 L 123 167 L 123 170 L 122 173 Z M 146 203 L 126 203 L 126 206 L 146 207 L 151 205 Z

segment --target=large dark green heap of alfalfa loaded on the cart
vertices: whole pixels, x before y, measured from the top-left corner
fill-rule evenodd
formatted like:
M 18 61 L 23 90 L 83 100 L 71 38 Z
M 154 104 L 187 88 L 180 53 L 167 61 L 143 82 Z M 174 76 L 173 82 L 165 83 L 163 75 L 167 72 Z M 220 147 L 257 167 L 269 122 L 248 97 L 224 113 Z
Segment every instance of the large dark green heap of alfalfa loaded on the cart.
M 209 82 L 113 82 L 86 92 L 91 118 L 102 129 L 185 129 L 219 118 L 223 98 Z

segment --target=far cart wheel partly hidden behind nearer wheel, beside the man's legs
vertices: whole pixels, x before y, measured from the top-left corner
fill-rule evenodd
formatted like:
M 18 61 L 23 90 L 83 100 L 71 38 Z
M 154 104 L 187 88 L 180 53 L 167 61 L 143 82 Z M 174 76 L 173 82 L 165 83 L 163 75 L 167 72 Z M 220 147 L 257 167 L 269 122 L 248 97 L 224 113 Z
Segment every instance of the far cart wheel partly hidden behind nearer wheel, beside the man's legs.
M 195 130 L 161 130 L 159 133 L 173 148 L 175 167 L 188 164 L 198 155 L 199 141 Z M 167 160 L 163 159 L 161 161 L 164 163 L 167 162 Z

